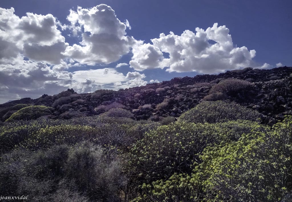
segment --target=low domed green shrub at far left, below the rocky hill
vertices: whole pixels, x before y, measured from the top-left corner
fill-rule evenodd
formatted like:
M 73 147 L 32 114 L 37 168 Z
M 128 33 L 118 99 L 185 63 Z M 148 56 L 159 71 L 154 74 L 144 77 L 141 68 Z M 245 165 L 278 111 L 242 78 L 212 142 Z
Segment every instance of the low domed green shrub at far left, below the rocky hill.
M 8 118 L 6 121 L 32 120 L 50 114 L 52 114 L 51 107 L 45 107 L 40 105 L 29 106 L 18 110 L 17 112 L 12 114 L 10 118 Z

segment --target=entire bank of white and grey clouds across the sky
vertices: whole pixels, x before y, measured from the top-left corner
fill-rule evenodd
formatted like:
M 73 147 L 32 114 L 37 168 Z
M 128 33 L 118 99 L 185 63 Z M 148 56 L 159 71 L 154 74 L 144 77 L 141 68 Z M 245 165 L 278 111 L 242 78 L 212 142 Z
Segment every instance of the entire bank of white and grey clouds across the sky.
M 196 28 L 196 33 L 186 30 L 180 36 L 162 33 L 152 39 L 152 44 L 144 44 L 127 36 L 129 22 L 121 22 L 105 4 L 70 10 L 67 20 L 69 25 L 61 24 L 51 14 L 27 13 L 18 17 L 13 8 L 0 8 L 0 102 L 36 98 L 67 88 L 84 93 L 145 85 L 145 74 L 124 75 L 117 68 L 69 72 L 71 67 L 112 63 L 130 51 L 130 63 L 116 67 L 215 73 L 255 64 L 252 59 L 256 52 L 244 46 L 234 47 L 229 30 L 217 24 L 206 30 Z M 59 29 L 70 29 L 81 42 L 69 46 Z M 271 67 L 265 63 L 259 68 Z

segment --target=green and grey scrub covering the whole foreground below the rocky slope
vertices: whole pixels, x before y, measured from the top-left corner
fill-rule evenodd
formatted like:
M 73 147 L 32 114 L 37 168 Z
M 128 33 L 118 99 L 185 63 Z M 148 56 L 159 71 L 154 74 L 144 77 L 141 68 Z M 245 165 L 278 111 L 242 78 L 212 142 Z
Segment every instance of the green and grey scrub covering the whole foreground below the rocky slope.
M 81 103 L 75 95 L 58 103 L 62 119 L 44 117 L 50 107 L 25 106 L 0 125 L 2 196 L 68 202 L 291 201 L 291 116 L 270 127 L 260 124 L 256 110 L 222 100 L 203 101 L 178 120 L 151 114 L 150 104 L 132 113 L 113 101 L 99 102 L 101 114 L 84 116 L 86 107 L 71 109 L 72 102 Z M 172 101 L 166 98 L 157 109 L 170 114 Z M 134 113 L 143 110 L 150 118 L 136 121 Z

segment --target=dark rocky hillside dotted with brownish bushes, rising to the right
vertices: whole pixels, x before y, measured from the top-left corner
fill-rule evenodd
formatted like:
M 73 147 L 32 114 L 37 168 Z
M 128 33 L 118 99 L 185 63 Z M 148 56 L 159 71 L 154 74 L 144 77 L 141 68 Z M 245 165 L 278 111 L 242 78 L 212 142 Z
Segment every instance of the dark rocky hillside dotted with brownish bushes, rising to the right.
M 19 104 L 53 107 L 49 118 L 72 118 L 124 108 L 137 120 L 179 117 L 204 100 L 230 100 L 258 110 L 263 123 L 272 125 L 292 114 L 292 67 L 271 70 L 245 68 L 218 75 L 176 77 L 170 81 L 119 91 L 98 90 L 77 94 L 68 89 L 56 95 L 23 98 L 0 104 L 1 121 L 18 110 Z M 16 106 L 17 105 L 17 106 Z M 20 107 L 21 108 L 21 107 Z

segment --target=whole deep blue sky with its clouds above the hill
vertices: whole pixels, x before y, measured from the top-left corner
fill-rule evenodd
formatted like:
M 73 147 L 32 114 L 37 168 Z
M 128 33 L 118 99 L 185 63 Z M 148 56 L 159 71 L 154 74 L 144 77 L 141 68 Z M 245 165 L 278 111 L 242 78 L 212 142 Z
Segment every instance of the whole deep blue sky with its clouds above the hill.
M 2 0 L 0 103 L 292 66 L 291 0 Z

